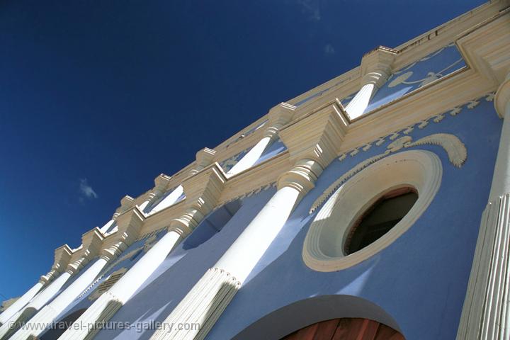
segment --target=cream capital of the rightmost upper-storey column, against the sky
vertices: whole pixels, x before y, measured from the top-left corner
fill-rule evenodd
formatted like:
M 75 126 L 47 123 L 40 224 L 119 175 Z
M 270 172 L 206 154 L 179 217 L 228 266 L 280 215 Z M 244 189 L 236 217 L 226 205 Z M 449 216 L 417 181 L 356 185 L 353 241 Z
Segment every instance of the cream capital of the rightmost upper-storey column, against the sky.
M 361 59 L 361 86 L 374 84 L 380 88 L 390 77 L 391 66 L 398 51 L 379 46 L 363 55 Z

